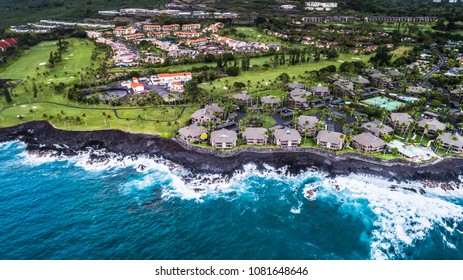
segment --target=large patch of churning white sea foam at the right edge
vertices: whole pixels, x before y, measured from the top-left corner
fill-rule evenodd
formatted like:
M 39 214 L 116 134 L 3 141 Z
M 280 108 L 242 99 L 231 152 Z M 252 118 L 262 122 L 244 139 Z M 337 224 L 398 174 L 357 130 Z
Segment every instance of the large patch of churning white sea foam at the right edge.
M 342 209 L 349 211 L 352 209 L 349 206 L 366 199 L 377 216 L 372 221 L 374 229 L 371 232 L 370 254 L 374 259 L 400 258 L 405 248 L 424 239 L 436 226 L 452 233 L 457 222 L 463 220 L 463 207 L 433 195 L 403 189 L 419 188 L 421 184 L 416 182 L 399 184 L 365 175 L 337 177 L 334 181 L 346 187 L 337 194 L 344 201 Z M 398 188 L 391 190 L 391 185 Z M 353 209 L 357 211 L 358 207 Z M 454 222 L 449 225 L 448 220 Z

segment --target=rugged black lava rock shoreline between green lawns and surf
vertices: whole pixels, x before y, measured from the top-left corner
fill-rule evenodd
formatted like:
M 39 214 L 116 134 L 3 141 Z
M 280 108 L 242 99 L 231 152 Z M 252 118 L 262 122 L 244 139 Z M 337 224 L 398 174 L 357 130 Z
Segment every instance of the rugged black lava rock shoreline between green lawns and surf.
M 318 168 L 332 176 L 350 173 L 372 174 L 395 179 L 456 182 L 463 174 L 462 158 L 445 158 L 423 164 L 405 160 L 381 160 L 356 153 L 294 148 L 245 148 L 230 152 L 192 147 L 172 139 L 120 130 L 65 131 L 48 122 L 35 121 L 15 127 L 0 128 L 0 142 L 19 140 L 32 153 L 58 152 L 72 156 L 82 151 L 102 150 L 123 156 L 158 156 L 198 173 L 231 175 L 247 163 L 258 167 L 288 166 L 291 173 Z M 96 157 L 96 155 L 95 155 Z

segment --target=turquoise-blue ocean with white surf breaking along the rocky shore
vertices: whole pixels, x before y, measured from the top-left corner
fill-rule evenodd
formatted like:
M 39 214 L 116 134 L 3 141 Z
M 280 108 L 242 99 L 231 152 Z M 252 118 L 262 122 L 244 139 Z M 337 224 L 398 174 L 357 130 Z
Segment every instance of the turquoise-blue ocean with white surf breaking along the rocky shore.
M 253 165 L 222 178 L 20 142 L 0 166 L 0 259 L 463 259 L 463 189 Z

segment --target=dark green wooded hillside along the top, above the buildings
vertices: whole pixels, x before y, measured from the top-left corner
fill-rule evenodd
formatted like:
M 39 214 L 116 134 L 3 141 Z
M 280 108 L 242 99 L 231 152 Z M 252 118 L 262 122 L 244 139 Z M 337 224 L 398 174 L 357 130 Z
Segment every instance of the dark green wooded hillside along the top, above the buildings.
M 325 0 L 318 0 L 325 1 Z M 341 11 L 335 13 L 360 12 L 383 15 L 435 15 L 453 21 L 461 20 L 463 3 L 433 3 L 432 0 L 331 0 L 339 3 Z M 82 19 L 97 15 L 98 10 L 121 8 L 163 8 L 170 0 L 0 0 L 0 29 L 13 24 L 22 24 L 44 18 Z M 222 11 L 237 11 L 258 14 L 282 4 L 303 7 L 305 0 L 182 0 L 175 1 L 196 5 L 198 9 L 215 8 Z M 304 12 L 309 14 L 310 12 Z

